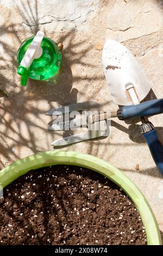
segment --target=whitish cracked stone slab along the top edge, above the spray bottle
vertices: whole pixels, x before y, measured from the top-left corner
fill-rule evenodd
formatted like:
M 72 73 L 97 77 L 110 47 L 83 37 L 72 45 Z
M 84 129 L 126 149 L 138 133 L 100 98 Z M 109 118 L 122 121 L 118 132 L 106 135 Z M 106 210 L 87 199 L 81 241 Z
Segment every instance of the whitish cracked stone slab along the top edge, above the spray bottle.
M 24 28 L 30 30 L 37 25 L 47 32 L 87 30 L 98 9 L 98 0 L 1 0 L 0 3 L 22 16 Z

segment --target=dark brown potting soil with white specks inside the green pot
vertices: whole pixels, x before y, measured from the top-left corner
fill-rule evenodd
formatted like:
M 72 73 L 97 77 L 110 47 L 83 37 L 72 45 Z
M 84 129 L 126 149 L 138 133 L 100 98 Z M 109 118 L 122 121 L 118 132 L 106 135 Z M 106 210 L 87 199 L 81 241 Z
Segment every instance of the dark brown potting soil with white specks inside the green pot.
M 113 182 L 89 169 L 31 170 L 4 189 L 0 245 L 145 245 L 139 212 Z

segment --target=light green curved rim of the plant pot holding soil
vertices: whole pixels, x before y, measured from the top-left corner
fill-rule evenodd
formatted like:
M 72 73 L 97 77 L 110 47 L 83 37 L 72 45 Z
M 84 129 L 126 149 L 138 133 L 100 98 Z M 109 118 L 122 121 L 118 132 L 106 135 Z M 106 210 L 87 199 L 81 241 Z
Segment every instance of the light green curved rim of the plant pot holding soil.
M 153 211 L 139 188 L 137 188 L 121 170 L 111 166 L 111 164 L 98 157 L 78 153 L 76 151 L 47 151 L 38 153 L 18 160 L 1 170 L 0 185 L 2 187 L 9 185 L 12 181 L 26 174 L 31 169 L 39 169 L 56 164 L 70 164 L 86 167 L 115 182 L 127 193 L 139 211 L 146 230 L 148 245 L 162 244 L 160 230 Z

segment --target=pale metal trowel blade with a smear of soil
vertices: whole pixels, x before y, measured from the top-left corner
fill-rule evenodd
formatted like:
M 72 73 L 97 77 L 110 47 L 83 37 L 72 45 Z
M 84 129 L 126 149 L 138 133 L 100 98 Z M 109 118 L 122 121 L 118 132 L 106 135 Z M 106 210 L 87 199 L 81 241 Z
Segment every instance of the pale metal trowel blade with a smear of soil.
M 149 93 L 151 83 L 133 54 L 124 45 L 108 39 L 103 48 L 102 64 L 115 104 L 122 106 L 133 104 L 126 89 L 129 84 L 133 84 L 139 101 Z

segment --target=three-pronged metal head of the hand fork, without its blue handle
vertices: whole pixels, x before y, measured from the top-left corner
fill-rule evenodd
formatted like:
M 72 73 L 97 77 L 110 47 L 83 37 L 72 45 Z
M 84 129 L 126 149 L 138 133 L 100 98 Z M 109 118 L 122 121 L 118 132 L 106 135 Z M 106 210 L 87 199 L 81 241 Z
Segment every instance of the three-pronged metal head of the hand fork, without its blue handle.
M 59 121 L 59 123 L 55 123 L 52 126 L 48 127 L 49 131 L 60 131 L 60 130 L 74 130 L 74 128 L 80 127 L 82 124 L 83 127 L 87 126 L 87 123 L 91 124 L 91 129 L 86 132 L 79 133 L 78 135 L 72 135 L 65 138 L 58 139 L 57 141 L 52 142 L 54 147 L 61 147 L 67 144 L 77 143 L 86 141 L 88 139 L 104 137 L 109 135 L 109 125 L 106 122 L 106 119 L 103 120 L 98 119 L 98 114 L 104 115 L 103 108 L 101 104 L 96 101 L 86 101 L 81 103 L 75 103 L 72 105 L 67 105 L 65 107 L 60 107 L 57 109 L 49 110 L 46 115 L 52 115 L 53 118 L 60 118 L 62 115 L 66 115 L 72 112 L 86 111 L 88 115 L 84 118 L 74 118 L 73 120 L 68 121 Z M 95 115 L 94 115 L 95 113 Z M 106 117 L 106 115 L 105 115 Z M 109 118 L 109 113 L 107 115 Z M 96 121 L 95 121 L 96 120 Z M 83 121 L 83 122 L 81 122 Z

